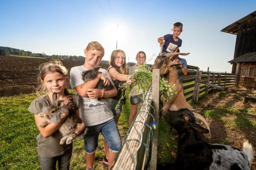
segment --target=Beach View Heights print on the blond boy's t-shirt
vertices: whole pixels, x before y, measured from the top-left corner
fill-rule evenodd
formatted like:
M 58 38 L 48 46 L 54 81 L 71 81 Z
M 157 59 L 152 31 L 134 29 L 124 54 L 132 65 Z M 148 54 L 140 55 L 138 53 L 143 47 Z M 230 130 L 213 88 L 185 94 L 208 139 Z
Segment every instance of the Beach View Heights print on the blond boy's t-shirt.
M 106 108 L 107 104 L 104 99 L 101 99 L 101 101 L 84 99 L 84 113 L 101 112 Z

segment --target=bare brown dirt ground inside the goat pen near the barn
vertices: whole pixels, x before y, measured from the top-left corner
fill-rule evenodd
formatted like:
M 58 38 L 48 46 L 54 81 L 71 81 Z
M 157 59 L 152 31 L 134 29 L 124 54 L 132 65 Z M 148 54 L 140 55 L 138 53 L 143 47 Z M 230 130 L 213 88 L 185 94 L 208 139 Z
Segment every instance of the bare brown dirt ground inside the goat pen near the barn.
M 254 96 L 256 97 L 256 90 L 254 89 L 245 89 L 245 88 L 234 88 L 230 87 L 226 91 L 214 90 L 208 96 L 205 96 L 197 104 L 193 104 L 193 108 L 197 112 L 204 112 L 205 110 L 211 109 L 238 109 L 251 110 L 254 114 L 246 115 L 248 120 L 256 120 L 256 103 L 244 103 L 245 96 Z M 227 114 L 225 115 L 227 119 L 237 118 L 235 115 Z M 242 148 L 244 139 L 247 139 L 254 148 L 254 155 L 256 154 L 256 129 L 247 128 L 239 130 L 229 130 L 226 128 L 225 121 L 215 120 L 213 118 L 207 118 L 207 122 L 210 125 L 212 138 L 207 136 L 205 139 L 211 144 L 220 144 L 224 143 L 226 145 L 231 145 L 236 148 Z M 239 123 L 239 122 L 238 122 Z M 223 139 L 227 139 L 223 141 Z M 256 158 L 254 156 L 253 163 L 251 165 L 252 170 L 256 170 Z

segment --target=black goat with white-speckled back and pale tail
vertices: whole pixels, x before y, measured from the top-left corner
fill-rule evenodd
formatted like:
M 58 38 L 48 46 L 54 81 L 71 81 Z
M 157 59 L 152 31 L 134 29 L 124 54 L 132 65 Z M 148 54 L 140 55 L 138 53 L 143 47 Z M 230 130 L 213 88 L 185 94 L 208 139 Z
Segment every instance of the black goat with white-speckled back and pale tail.
M 163 117 L 177 130 L 179 141 L 176 163 L 159 164 L 158 170 L 250 170 L 253 149 L 248 141 L 244 142 L 242 151 L 202 141 L 197 132 L 209 131 L 196 124 L 193 113 L 188 109 L 168 110 Z

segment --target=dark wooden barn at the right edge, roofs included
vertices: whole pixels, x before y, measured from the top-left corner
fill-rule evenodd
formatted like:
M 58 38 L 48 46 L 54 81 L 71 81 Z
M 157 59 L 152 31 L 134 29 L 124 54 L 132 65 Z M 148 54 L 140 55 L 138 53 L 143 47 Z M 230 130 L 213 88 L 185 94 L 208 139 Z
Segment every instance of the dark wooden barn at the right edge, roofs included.
M 256 11 L 221 30 L 236 35 L 232 72 L 236 86 L 256 86 Z

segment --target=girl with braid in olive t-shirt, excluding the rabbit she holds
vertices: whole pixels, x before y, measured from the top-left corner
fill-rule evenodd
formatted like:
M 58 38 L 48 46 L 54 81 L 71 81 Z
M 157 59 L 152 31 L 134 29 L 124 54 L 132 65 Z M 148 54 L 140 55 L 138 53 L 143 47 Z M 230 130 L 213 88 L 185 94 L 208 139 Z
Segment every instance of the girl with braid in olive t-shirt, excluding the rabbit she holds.
M 40 117 L 39 113 L 52 104 L 52 94 L 57 93 L 57 100 L 64 101 L 64 107 L 68 108 L 69 113 L 75 111 L 79 115 L 79 97 L 76 94 L 70 94 L 66 89 L 66 81 L 69 79 L 67 69 L 59 60 L 46 62 L 39 67 L 40 86 L 38 91 L 46 91 L 47 93 L 30 103 L 28 110 L 34 113 L 34 120 L 38 127 L 39 134 L 37 136 L 37 151 L 39 162 L 42 170 L 55 170 L 58 161 L 59 170 L 68 170 L 72 155 L 73 143 L 60 145 L 62 134 L 57 130 L 68 113 L 63 113 L 62 120 L 59 123 L 50 123 L 44 127 L 38 125 L 45 120 Z M 80 134 L 85 125 L 78 123 L 74 133 Z

